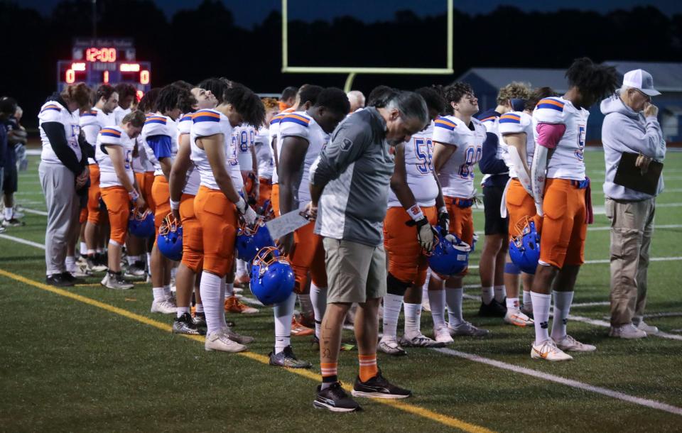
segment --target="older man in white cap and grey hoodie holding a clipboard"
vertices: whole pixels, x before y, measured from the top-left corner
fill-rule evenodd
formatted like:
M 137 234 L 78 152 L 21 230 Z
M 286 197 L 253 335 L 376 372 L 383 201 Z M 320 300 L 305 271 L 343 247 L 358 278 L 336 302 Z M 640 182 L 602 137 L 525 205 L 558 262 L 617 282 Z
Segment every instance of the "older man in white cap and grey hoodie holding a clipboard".
M 637 168 L 646 172 L 652 160 L 662 161 L 666 143 L 651 97 L 659 95 L 649 72 L 638 69 L 624 75 L 617 93 L 602 101 L 605 114 L 602 143 L 606 160 L 604 182 L 606 215 L 611 221 L 611 330 L 609 335 L 639 339 L 658 329 L 644 323 L 646 270 L 654 232 L 656 195 L 663 191 L 659 178 L 655 194 L 615 183 L 624 152 L 637 153 Z

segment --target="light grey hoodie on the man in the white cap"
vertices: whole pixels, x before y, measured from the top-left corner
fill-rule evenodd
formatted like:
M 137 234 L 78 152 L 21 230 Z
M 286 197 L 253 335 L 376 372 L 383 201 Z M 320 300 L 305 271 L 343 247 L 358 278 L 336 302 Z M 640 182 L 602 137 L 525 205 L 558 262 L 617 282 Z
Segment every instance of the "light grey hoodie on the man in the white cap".
M 602 125 L 602 144 L 606 162 L 605 196 L 617 200 L 644 200 L 654 197 L 616 185 L 613 178 L 623 152 L 642 153 L 659 162 L 664 160 L 666 142 L 656 116 L 649 116 L 645 119 L 644 114 L 626 106 L 619 94 L 604 99 L 600 108 L 606 116 Z M 663 175 L 661 175 L 656 195 L 663 191 L 663 186 Z

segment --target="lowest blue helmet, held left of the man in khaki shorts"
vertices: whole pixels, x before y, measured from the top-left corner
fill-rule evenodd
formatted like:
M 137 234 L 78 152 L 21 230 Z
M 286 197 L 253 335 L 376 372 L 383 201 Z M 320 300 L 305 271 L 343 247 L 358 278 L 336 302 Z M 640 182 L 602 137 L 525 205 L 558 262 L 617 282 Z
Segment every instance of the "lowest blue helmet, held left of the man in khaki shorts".
M 278 304 L 293 292 L 296 277 L 289 261 L 274 246 L 266 246 L 256 254 L 251 266 L 251 292 L 264 305 Z

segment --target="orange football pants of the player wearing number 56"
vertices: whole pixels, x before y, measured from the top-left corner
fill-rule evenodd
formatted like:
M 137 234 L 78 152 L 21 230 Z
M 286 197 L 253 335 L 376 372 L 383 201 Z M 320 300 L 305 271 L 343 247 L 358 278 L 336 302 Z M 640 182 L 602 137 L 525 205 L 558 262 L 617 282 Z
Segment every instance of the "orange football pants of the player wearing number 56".
M 438 222 L 435 206 L 422 207 L 428 223 Z M 419 240 L 416 226 L 407 226 L 412 218 L 403 207 L 389 207 L 384 219 L 384 248 L 389 256 L 389 273 L 404 283 L 423 285 L 428 262 Z

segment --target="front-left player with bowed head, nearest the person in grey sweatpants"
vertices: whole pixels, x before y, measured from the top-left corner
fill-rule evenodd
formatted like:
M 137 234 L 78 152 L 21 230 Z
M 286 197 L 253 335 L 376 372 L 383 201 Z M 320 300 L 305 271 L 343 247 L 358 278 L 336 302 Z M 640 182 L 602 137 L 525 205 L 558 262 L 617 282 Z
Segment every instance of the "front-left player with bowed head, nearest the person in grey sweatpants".
M 102 285 L 125 290 L 133 287 L 121 274 L 121 248 L 126 241 L 130 207 L 144 209 L 144 198 L 136 185 L 131 168 L 135 138 L 144 126 L 144 113 L 131 111 L 118 126 L 102 128 L 97 135 L 95 160 L 99 166 L 99 188 L 107 205 L 111 236 L 109 238 L 109 270 Z

